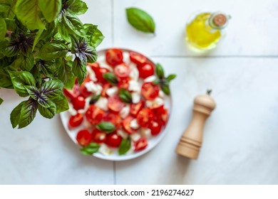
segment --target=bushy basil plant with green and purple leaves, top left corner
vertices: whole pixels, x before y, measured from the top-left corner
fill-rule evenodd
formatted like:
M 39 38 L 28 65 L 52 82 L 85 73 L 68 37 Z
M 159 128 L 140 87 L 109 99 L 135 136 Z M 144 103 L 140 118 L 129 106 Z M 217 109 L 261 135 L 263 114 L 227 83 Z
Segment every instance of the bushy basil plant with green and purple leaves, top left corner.
M 11 112 L 13 128 L 37 111 L 50 119 L 68 109 L 63 88 L 83 82 L 104 38 L 78 18 L 87 9 L 81 0 L 0 0 L 0 87 L 25 97 Z

